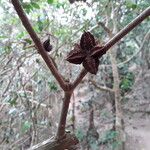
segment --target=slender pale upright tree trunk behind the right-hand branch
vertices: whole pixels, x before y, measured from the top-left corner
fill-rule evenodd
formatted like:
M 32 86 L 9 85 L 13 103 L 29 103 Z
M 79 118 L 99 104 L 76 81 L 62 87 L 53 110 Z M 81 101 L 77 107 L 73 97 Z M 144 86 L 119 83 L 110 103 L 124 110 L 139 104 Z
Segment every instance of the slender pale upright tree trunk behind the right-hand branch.
M 112 13 L 114 14 L 114 8 L 112 6 Z M 114 15 L 113 19 L 113 33 L 109 33 L 109 37 L 112 38 L 113 34 L 116 34 L 118 32 L 117 28 L 117 18 L 118 14 L 116 13 Z M 117 137 L 116 141 L 119 142 L 117 150 L 124 150 L 125 147 L 125 133 L 124 133 L 124 124 L 123 124 L 123 110 L 122 110 L 122 104 L 121 104 L 121 94 L 120 94 L 120 79 L 119 79 L 119 72 L 118 72 L 118 67 L 117 67 L 117 49 L 118 46 L 115 45 L 113 48 L 110 49 L 109 54 L 110 54 L 110 61 L 112 64 L 112 74 L 113 74 L 113 90 L 114 90 L 114 107 L 115 107 L 115 131 L 117 132 Z

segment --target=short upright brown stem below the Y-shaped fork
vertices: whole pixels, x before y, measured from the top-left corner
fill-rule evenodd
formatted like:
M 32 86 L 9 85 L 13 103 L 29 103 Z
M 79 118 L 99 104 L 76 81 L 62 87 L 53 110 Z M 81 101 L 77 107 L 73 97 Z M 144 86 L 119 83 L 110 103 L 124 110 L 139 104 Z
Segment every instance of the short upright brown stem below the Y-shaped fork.
M 65 126 L 66 126 L 66 118 L 69 109 L 70 98 L 72 95 L 72 91 L 65 91 L 65 97 L 63 100 L 63 106 L 61 110 L 60 121 L 57 130 L 57 139 L 62 138 L 65 135 Z

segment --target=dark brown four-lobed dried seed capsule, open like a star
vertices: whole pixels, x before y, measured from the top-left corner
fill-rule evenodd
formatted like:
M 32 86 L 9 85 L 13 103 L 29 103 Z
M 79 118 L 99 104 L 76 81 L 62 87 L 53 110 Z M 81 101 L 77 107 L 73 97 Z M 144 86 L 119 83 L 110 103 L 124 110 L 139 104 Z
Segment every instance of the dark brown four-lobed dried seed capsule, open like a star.
M 81 36 L 80 45 L 75 44 L 66 60 L 73 64 L 83 63 L 83 67 L 88 72 L 96 74 L 99 58 L 105 53 L 103 46 L 96 43 L 94 36 L 90 32 L 84 32 Z

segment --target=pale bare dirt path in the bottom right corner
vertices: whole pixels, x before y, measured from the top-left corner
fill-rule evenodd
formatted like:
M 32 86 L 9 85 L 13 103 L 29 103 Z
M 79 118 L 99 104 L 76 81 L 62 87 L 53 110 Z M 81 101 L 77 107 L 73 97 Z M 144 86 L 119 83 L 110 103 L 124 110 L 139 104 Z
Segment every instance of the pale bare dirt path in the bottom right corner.
M 132 118 L 125 128 L 127 150 L 150 150 L 150 117 Z

